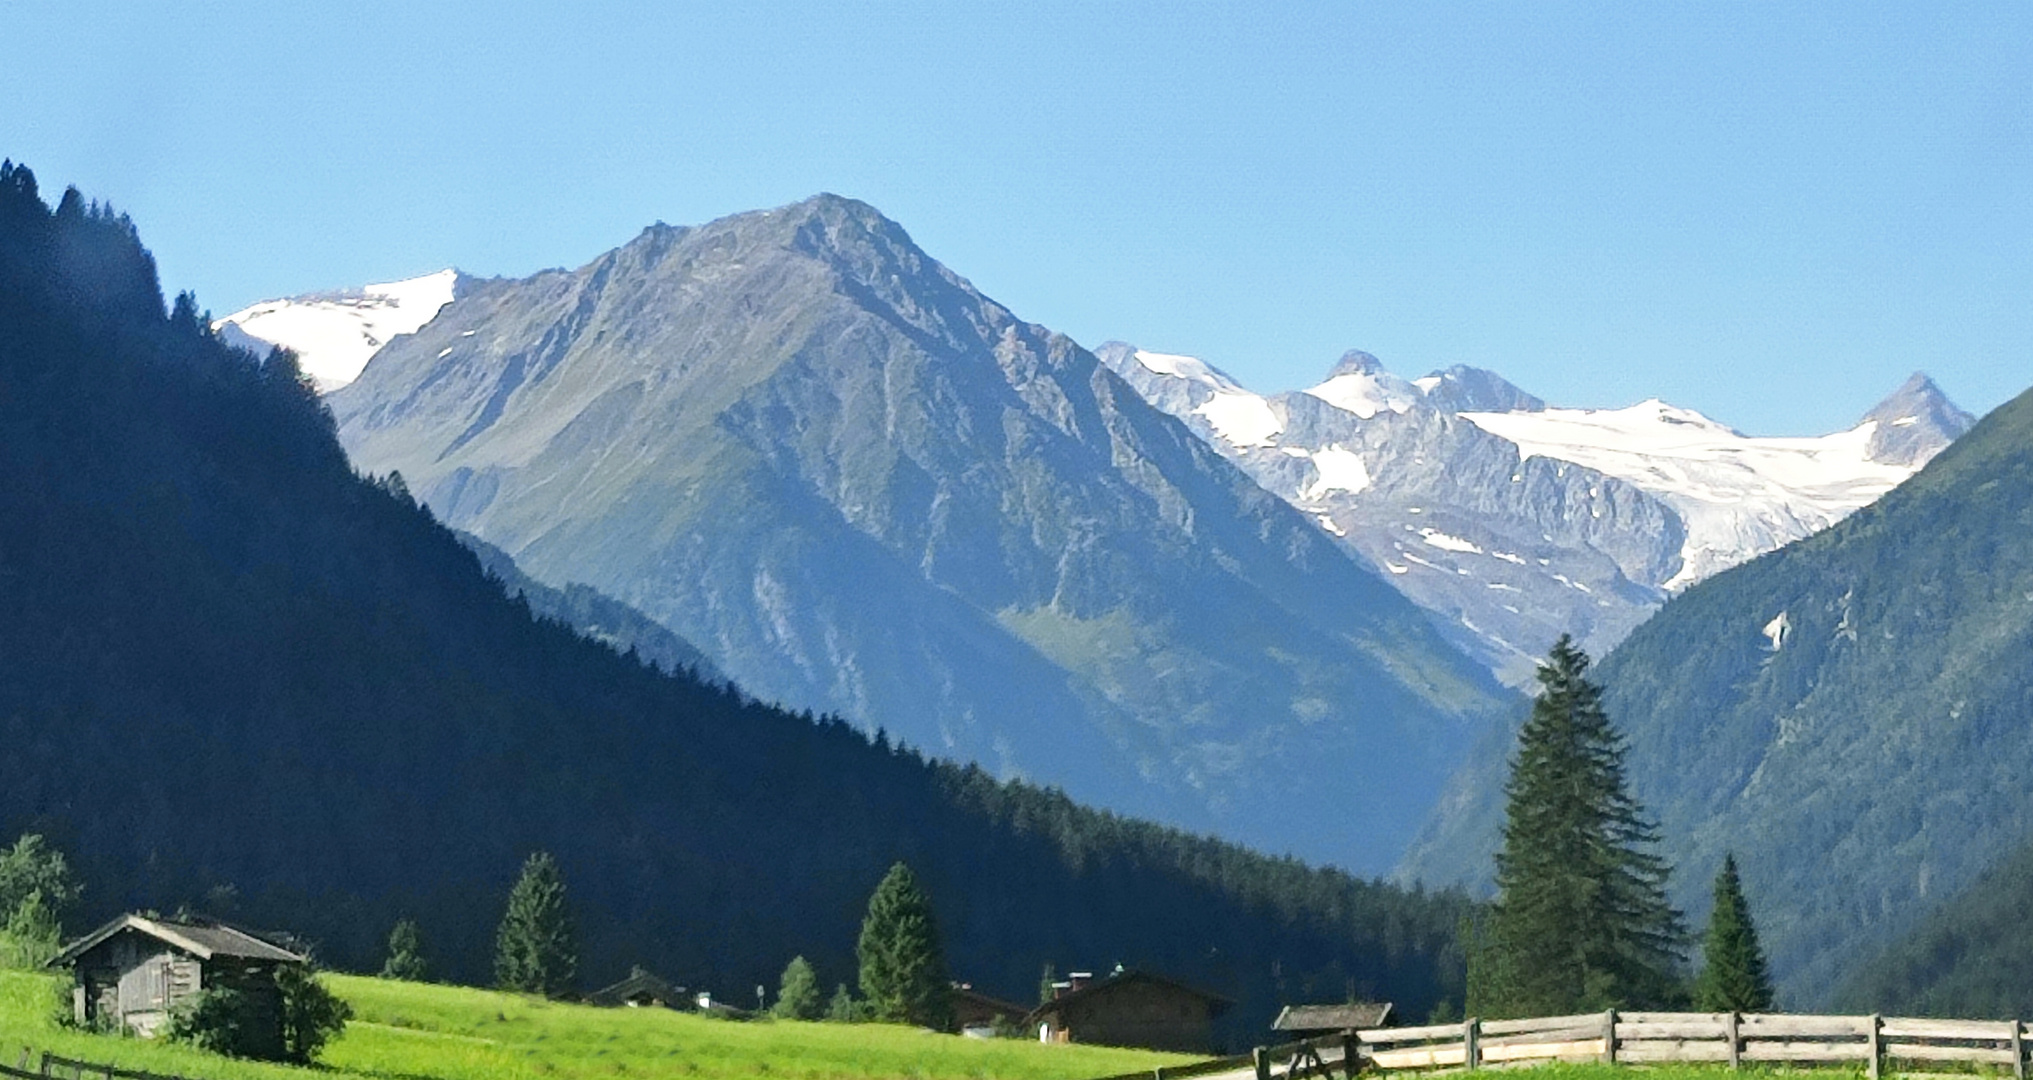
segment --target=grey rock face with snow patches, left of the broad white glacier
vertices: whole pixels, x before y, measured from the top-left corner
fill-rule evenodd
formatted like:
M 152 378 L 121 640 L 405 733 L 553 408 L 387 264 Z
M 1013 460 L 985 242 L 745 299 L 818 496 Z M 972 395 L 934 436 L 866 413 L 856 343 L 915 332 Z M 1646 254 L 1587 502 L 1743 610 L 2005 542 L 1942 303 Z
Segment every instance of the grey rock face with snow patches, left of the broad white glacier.
M 1561 633 L 1592 649 L 1622 639 L 1679 565 L 1681 527 L 1657 498 L 1569 462 L 1523 460 L 1517 443 L 1425 401 L 1543 409 L 1490 372 L 1454 368 L 1419 380 L 1431 384 L 1421 391 L 1376 358 L 1348 354 L 1326 393 L 1256 399 L 1197 360 L 1153 360 L 1120 342 L 1096 354 L 1389 576 L 1506 681 L 1529 679 Z M 1234 419 L 1258 401 L 1254 429 Z M 1246 443 L 1238 431 L 1262 437 Z

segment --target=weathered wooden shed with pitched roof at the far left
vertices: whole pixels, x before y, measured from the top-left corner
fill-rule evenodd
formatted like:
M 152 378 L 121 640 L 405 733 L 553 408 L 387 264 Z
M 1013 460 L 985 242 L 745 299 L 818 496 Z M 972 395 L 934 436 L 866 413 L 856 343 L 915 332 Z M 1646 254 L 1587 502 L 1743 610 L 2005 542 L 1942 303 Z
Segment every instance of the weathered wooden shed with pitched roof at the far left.
M 283 1043 L 279 964 L 305 958 L 244 929 L 209 919 L 120 915 L 65 946 L 49 966 L 75 972 L 71 1009 L 77 1023 L 110 1025 L 152 1037 L 171 1009 L 211 986 L 246 995 L 262 1035 Z

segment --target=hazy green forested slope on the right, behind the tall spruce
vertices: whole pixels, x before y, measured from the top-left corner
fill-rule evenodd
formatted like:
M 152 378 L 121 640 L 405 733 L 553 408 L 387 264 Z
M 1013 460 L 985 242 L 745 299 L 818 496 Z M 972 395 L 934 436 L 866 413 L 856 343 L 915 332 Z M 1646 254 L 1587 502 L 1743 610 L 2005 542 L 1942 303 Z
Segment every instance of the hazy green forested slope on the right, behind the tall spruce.
M 1815 1007 L 2033 836 L 2027 657 L 2033 393 L 1876 504 L 1671 600 L 1598 677 L 1679 903 L 1700 917 L 1736 852 L 1781 1003 Z M 1488 875 L 1500 769 L 1484 748 L 1409 875 Z

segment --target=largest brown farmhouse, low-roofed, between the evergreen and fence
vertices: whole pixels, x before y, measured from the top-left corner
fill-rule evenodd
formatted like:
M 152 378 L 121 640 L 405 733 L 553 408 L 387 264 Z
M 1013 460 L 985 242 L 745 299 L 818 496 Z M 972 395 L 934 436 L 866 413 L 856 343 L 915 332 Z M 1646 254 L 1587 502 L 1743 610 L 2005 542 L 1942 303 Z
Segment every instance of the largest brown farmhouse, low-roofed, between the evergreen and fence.
M 1136 970 L 1118 970 L 1100 980 L 1073 974 L 1053 988 L 1059 997 L 1029 1015 L 1029 1025 L 1045 1043 L 1208 1054 L 1214 1049 L 1214 1017 L 1234 1005 L 1222 995 Z

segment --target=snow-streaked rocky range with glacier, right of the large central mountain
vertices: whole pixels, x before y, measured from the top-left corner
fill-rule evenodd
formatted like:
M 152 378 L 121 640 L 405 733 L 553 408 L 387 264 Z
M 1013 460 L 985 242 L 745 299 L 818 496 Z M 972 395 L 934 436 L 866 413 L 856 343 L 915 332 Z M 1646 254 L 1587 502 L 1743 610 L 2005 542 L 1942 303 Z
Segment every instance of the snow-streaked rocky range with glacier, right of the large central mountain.
M 1602 655 L 1673 590 L 1826 529 L 1970 423 L 1925 376 L 1848 433 L 1750 439 L 1663 403 L 1547 409 L 1480 368 L 1407 380 L 1366 352 L 1271 397 L 1189 356 L 1096 352 L 1515 685 L 1561 633 Z

